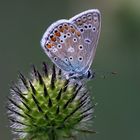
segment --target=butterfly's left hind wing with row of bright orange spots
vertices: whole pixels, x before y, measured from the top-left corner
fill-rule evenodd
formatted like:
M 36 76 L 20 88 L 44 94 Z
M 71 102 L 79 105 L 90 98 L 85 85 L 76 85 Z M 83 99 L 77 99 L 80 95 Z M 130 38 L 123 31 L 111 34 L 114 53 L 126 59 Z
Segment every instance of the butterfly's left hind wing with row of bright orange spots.
M 52 24 L 41 40 L 41 46 L 48 57 L 62 70 L 77 73 L 81 68 L 82 56 L 77 56 L 81 33 L 68 20 Z M 83 54 L 82 54 L 83 53 Z M 81 52 L 84 55 L 84 51 Z

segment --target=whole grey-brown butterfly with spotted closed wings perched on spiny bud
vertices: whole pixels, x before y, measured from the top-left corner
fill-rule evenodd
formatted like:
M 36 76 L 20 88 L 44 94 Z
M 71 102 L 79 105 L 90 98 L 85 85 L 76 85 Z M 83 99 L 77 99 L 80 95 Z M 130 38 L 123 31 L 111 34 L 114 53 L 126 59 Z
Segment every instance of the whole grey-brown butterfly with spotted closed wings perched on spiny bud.
M 41 46 L 68 78 L 90 78 L 101 28 L 97 9 L 84 11 L 69 20 L 54 22 L 44 33 Z

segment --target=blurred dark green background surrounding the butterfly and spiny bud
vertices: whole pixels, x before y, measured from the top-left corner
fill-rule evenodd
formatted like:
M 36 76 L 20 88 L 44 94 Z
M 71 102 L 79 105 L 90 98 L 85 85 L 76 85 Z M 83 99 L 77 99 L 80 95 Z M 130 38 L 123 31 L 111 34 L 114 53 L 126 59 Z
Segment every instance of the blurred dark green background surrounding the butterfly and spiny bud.
M 46 28 L 61 18 L 98 8 L 102 29 L 92 68 L 117 71 L 88 83 L 95 97 L 93 128 L 87 139 L 140 139 L 140 1 L 139 0 L 0 0 L 0 139 L 11 140 L 6 97 L 18 72 L 29 76 L 31 64 L 50 62 L 40 47 Z

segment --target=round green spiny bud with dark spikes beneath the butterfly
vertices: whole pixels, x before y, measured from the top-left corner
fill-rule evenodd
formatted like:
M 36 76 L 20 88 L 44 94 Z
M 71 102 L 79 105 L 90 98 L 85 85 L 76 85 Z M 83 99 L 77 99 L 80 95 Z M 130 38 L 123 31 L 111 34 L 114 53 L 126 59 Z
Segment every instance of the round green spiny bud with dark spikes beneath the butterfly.
M 55 66 L 48 70 L 46 63 L 42 74 L 33 66 L 32 80 L 22 74 L 19 78 L 20 84 L 11 88 L 8 104 L 18 139 L 63 140 L 88 132 L 93 105 L 84 85 L 65 79 Z

